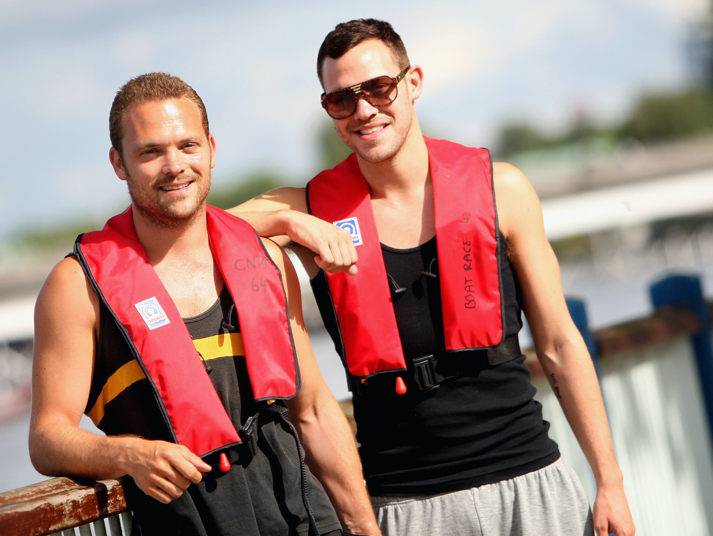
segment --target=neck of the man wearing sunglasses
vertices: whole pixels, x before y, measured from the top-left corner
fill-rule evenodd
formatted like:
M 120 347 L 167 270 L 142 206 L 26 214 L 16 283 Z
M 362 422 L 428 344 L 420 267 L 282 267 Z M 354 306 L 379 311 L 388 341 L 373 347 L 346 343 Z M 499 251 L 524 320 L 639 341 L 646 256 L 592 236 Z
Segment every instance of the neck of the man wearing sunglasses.
M 430 181 L 429 151 L 419 122 L 414 117 L 399 151 L 383 162 L 367 162 L 357 156 L 359 168 L 369 183 L 371 198 L 423 192 Z

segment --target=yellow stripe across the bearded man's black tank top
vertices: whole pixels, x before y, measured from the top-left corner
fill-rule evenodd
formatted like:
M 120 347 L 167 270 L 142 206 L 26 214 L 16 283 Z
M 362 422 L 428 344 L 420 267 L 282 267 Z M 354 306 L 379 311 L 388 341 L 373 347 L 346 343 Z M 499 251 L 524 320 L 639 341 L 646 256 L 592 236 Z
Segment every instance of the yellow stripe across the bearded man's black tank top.
M 245 355 L 245 349 L 242 347 L 242 335 L 240 335 L 240 333 L 221 333 L 220 335 L 213 335 L 212 337 L 196 339 L 193 341 L 193 345 L 206 361 L 232 357 L 234 355 Z M 122 365 L 106 380 L 96 402 L 91 410 L 87 412 L 87 416 L 91 418 L 95 425 L 99 425 L 104 418 L 104 408 L 106 405 L 114 400 L 125 388 L 128 388 L 129 385 L 145 377 L 137 360 L 129 361 L 125 365 Z

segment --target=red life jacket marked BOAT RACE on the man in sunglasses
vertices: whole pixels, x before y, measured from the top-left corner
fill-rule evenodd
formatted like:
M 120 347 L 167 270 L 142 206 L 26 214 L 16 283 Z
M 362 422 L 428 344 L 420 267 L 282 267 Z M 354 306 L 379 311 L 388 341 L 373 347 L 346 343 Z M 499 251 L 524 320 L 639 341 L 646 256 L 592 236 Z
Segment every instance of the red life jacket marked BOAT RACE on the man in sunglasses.
M 446 350 L 494 348 L 503 341 L 504 313 L 490 153 L 424 139 L 434 188 Z M 349 373 L 368 378 L 405 370 L 369 185 L 356 155 L 309 181 L 307 201 L 311 214 L 352 232 L 359 253 L 356 275 L 327 273 Z

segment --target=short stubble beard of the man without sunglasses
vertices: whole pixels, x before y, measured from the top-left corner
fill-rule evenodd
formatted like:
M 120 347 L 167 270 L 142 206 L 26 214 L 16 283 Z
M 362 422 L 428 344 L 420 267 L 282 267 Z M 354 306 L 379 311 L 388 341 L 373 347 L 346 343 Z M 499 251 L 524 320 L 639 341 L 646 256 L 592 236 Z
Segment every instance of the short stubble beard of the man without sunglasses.
M 210 190 L 210 174 L 207 178 L 201 178 L 195 173 L 183 173 L 176 176 L 175 179 L 178 179 L 178 182 L 181 179 L 193 181 L 193 185 L 198 187 L 198 193 L 193 198 L 170 198 L 168 196 L 155 195 L 153 184 L 148 192 L 142 190 L 135 186 L 127 173 L 126 184 L 131 203 L 133 203 L 136 211 L 154 226 L 175 229 L 190 225 L 200 217 L 200 209 L 205 203 L 205 198 L 207 198 Z

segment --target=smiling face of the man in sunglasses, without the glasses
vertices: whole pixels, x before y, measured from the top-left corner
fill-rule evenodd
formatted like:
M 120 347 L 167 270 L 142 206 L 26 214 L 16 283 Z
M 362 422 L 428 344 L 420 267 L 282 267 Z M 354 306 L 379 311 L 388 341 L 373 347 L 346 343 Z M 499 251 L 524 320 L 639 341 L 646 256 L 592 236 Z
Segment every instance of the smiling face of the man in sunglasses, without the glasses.
M 337 59 L 324 59 L 324 92 L 330 93 L 377 76 L 395 77 L 401 69 L 403 67 L 396 64 L 391 50 L 382 41 L 362 41 Z M 404 145 L 415 119 L 413 101 L 421 94 L 420 76 L 411 74 L 409 71 L 399 82 L 399 95 L 388 106 L 371 106 L 364 98 L 359 98 L 354 115 L 333 120 L 339 138 L 365 161 L 389 160 Z

